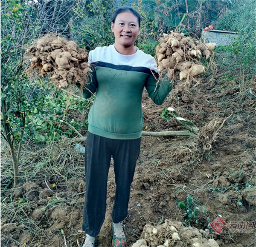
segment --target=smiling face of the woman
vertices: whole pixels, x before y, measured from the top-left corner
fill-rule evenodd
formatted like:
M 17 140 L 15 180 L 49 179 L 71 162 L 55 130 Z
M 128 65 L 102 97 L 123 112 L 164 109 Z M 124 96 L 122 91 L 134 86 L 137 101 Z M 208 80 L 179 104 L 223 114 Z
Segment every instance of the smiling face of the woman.
M 116 16 L 115 23 L 111 23 L 111 30 L 115 35 L 116 45 L 134 45 L 140 34 L 138 18 L 131 12 L 120 13 Z

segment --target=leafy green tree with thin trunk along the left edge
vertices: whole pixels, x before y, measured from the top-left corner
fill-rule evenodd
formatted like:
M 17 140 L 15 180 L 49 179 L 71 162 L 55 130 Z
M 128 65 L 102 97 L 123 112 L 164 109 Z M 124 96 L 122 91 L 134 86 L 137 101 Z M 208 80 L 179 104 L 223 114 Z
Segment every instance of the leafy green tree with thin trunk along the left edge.
M 68 35 L 75 1 L 2 1 L 1 25 L 1 135 L 9 144 L 14 168 L 14 186 L 19 178 L 22 142 L 37 136 L 30 116 L 40 113 L 45 93 L 29 82 L 25 47 L 50 31 Z

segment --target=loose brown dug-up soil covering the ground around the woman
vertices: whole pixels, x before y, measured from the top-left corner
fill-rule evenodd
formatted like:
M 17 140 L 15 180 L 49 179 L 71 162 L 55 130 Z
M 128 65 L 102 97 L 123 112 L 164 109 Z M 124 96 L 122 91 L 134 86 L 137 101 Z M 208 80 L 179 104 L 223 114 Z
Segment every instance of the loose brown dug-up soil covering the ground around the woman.
M 157 226 L 166 219 L 174 224 L 182 222 L 183 227 L 208 229 L 207 238 L 214 238 L 221 247 L 256 246 L 256 226 L 252 233 L 229 232 L 231 221 L 256 220 L 256 78 L 245 84 L 242 79 L 228 80 L 224 73 L 218 68 L 213 77 L 204 74 L 189 86 L 175 83 L 161 106 L 154 105 L 143 92 L 143 131 L 184 130 L 175 119 L 167 122 L 160 117 L 163 108 L 172 107 L 195 123 L 200 133 L 198 138 L 142 137 L 129 215 L 124 221 L 128 247 L 145 236 L 146 224 Z M 1 154 L 1 246 L 79 246 L 84 237 L 81 226 L 86 185 L 83 153 L 75 150 L 75 143 L 39 148 L 31 144 L 30 149 L 23 150 L 22 177 L 15 189 L 5 175 L 4 168 L 11 164 L 5 144 Z M 40 170 L 43 157 L 48 157 L 48 162 Z M 112 162 L 98 247 L 111 246 L 114 195 Z M 178 206 L 178 202 L 187 203 L 187 195 L 194 200 L 190 213 L 197 206 L 198 215 L 191 220 L 183 217 L 186 210 Z M 220 234 L 210 227 L 218 216 L 227 223 Z M 173 241 L 172 246 L 192 245 L 183 238 Z

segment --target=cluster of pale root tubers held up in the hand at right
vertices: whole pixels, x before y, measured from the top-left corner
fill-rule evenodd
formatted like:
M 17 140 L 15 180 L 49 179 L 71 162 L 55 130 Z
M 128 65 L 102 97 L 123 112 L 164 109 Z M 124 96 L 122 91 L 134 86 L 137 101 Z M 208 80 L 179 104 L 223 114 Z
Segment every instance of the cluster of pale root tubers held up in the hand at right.
M 215 43 L 200 43 L 176 31 L 163 34 L 160 43 L 156 47 L 158 71 L 180 71 L 180 80 L 205 73 L 205 67 L 197 59 L 202 56 L 209 59 L 216 47 Z

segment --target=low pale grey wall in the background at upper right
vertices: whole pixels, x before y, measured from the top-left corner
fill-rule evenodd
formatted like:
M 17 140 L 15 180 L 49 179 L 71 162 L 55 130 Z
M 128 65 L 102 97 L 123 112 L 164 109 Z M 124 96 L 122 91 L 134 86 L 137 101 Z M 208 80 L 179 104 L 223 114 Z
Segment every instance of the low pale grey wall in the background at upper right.
M 202 32 L 202 41 L 204 43 L 213 42 L 218 45 L 230 45 L 238 38 L 238 34 L 230 31 L 206 30 Z

